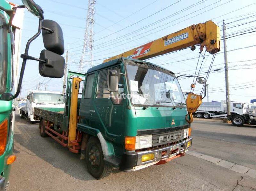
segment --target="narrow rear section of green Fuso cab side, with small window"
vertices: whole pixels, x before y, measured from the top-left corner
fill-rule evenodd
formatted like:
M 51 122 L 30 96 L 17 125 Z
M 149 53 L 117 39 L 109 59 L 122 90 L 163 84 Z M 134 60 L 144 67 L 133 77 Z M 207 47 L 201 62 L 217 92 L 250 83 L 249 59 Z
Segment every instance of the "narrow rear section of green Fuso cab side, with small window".
M 89 125 L 92 127 L 92 114 L 94 110 L 91 109 L 92 97 L 94 92 L 95 84 L 95 73 L 86 75 L 83 98 L 81 99 L 79 116 L 81 118 L 81 123 Z

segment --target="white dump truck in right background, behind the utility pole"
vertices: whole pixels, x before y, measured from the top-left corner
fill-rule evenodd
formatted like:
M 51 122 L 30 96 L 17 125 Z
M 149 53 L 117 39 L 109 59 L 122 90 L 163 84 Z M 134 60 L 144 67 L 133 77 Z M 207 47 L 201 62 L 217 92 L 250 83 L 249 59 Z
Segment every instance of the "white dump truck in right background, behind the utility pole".
M 249 109 L 248 103 L 240 103 L 236 101 L 230 101 L 231 115 L 234 114 L 246 114 Z M 194 116 L 197 118 L 227 118 L 227 104 L 226 101 L 221 100 L 220 102 L 202 102 L 200 107 L 197 109 Z

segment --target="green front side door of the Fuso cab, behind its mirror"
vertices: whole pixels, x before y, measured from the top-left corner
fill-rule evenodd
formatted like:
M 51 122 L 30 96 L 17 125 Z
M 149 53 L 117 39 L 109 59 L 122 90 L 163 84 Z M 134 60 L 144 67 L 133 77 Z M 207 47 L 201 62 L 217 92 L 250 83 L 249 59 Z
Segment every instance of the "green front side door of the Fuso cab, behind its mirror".
M 110 93 L 107 87 L 108 70 L 120 72 L 120 65 L 98 72 L 96 95 L 92 101 L 92 108 L 95 111 L 92 120 L 102 134 L 114 140 L 124 132 L 124 77 L 118 76 L 118 91 Z

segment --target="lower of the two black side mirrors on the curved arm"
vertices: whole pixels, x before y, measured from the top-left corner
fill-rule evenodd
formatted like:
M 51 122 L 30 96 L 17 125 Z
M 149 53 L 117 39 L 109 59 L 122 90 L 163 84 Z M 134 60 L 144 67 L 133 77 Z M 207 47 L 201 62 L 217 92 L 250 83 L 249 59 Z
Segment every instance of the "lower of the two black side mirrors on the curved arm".
M 61 78 L 64 75 L 65 60 L 62 56 L 49 50 L 40 53 L 39 73 L 44 77 Z

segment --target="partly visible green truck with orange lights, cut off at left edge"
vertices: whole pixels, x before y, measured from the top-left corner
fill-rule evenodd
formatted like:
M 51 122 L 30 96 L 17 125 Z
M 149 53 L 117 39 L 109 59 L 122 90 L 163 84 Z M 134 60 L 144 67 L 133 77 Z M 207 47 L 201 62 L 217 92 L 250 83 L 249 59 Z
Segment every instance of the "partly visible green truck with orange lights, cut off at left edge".
M 8 10 L 14 5 L 7 1 L 0 2 Z M 17 88 L 23 16 L 24 10 L 17 10 L 9 28 L 9 16 L 0 10 L 0 190 L 8 186 L 11 164 L 15 161 L 12 155 L 15 100 L 6 101 L 1 97 L 5 93 L 14 93 Z

